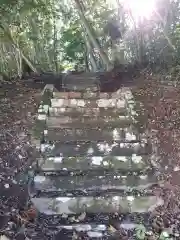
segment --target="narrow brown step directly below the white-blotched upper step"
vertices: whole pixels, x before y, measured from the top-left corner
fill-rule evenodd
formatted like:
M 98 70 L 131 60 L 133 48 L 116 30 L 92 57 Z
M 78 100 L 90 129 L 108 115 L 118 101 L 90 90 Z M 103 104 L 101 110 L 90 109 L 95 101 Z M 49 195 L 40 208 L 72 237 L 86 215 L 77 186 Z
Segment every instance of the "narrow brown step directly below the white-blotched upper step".
M 107 117 L 111 116 L 112 118 L 123 118 L 127 116 L 127 110 L 125 108 L 116 109 L 116 108 L 61 108 L 61 107 L 50 107 L 49 108 L 49 115 L 50 116 L 71 116 L 71 117 L 86 117 L 86 116 L 93 116 L 96 117 Z

